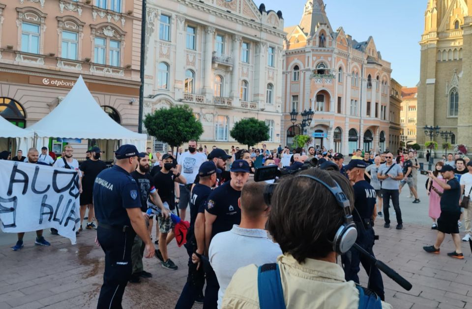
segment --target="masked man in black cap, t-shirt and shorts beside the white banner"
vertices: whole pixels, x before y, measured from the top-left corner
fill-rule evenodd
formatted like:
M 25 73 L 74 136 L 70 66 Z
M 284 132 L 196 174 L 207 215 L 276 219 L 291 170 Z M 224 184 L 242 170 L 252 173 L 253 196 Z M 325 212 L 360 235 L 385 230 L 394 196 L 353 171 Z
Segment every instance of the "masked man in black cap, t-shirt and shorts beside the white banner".
M 80 166 L 82 172 L 81 186 L 82 193 L 80 195 L 80 228 L 78 232 L 82 231 L 82 222 L 84 221 L 85 211 L 89 208 L 89 216 L 87 218 L 87 230 L 96 230 L 95 224 L 93 224 L 93 217 L 95 213 L 93 211 L 93 183 L 95 178 L 101 171 L 107 168 L 105 162 L 100 160 L 100 148 L 93 147 L 90 149 L 90 159 L 83 162 Z

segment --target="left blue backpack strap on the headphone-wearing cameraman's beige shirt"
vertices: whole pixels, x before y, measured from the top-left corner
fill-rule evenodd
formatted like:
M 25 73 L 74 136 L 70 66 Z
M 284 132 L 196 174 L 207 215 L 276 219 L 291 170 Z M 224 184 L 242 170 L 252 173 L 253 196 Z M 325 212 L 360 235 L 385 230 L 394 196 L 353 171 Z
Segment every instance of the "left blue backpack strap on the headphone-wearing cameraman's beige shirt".
M 285 309 L 284 290 L 277 263 L 259 266 L 257 290 L 261 309 Z

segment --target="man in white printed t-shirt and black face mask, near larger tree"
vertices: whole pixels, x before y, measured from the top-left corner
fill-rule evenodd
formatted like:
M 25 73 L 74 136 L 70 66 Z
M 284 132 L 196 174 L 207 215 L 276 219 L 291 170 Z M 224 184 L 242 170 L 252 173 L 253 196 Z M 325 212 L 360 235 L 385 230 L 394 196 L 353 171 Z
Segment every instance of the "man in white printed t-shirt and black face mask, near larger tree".
M 188 141 L 188 151 L 178 157 L 178 172 L 187 180 L 186 185 L 180 185 L 180 196 L 177 196 L 180 219 L 182 220 L 185 220 L 188 203 L 190 202 L 190 189 L 198 175 L 200 165 L 205 161 L 207 161 L 207 157 L 197 152 L 197 141 L 194 139 Z

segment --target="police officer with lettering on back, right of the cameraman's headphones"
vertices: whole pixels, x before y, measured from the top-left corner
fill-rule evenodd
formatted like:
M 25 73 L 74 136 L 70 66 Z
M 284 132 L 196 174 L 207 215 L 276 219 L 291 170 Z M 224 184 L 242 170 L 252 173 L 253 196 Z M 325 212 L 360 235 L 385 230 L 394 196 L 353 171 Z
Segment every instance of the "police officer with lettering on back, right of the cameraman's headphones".
M 354 211 L 353 219 L 357 227 L 356 243 L 364 248 L 371 256 L 374 256 L 372 247 L 374 246 L 374 220 L 376 217 L 376 192 L 375 189 L 364 179 L 365 163 L 363 160 L 351 160 L 346 165 L 346 171 L 351 182 L 354 182 Z M 371 259 L 361 255 L 357 250 L 351 248 L 345 255 L 341 256 L 344 264 L 346 281 L 353 280 L 359 283 L 357 273 L 360 270 L 359 263 L 362 263 L 369 276 L 368 288 L 373 290 L 382 300 L 385 299 L 383 291 L 383 280 L 379 269 Z

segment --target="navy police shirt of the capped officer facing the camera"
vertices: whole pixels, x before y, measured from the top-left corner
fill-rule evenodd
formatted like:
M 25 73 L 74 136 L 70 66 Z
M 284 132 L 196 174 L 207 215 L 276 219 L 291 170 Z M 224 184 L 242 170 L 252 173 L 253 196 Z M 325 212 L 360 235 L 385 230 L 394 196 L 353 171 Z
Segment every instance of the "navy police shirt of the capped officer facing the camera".
M 241 197 L 241 191 L 236 191 L 231 186 L 231 181 L 217 187 L 208 196 L 208 213 L 216 217 L 211 228 L 211 238 L 221 232 L 229 231 L 233 225 L 241 222 L 241 209 L 237 206 L 237 200 Z

